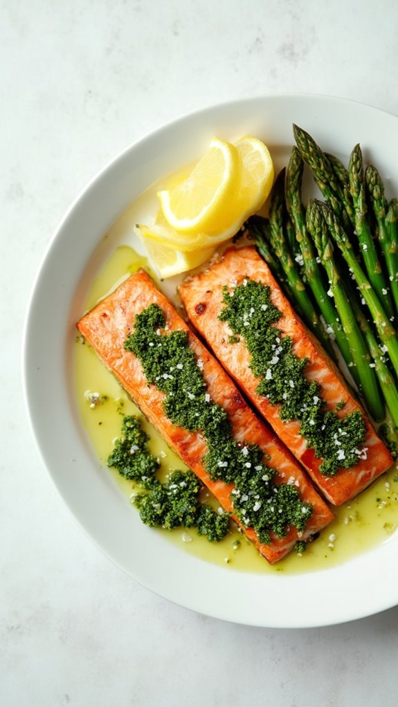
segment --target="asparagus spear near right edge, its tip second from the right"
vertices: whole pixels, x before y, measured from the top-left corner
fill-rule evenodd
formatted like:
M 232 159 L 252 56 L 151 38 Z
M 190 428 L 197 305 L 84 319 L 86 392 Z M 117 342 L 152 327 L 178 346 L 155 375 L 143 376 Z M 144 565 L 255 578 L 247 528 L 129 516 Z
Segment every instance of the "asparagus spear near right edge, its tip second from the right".
M 385 259 L 385 265 L 387 268 L 387 273 L 389 277 L 389 285 L 391 288 L 392 296 L 394 298 L 395 305 L 395 315 L 398 315 L 398 259 L 397 259 L 397 243 L 396 240 L 390 241 L 390 229 L 387 227 L 386 217 L 388 204 L 385 198 L 384 186 L 380 174 L 373 165 L 368 165 L 365 169 L 365 182 L 368 187 L 368 193 L 370 197 L 370 203 L 373 207 L 373 212 L 376 217 L 378 226 L 378 240 L 382 250 L 382 255 Z M 394 210 L 394 206 L 393 206 Z M 392 214 L 390 214 L 390 217 Z M 384 292 L 385 299 L 388 297 L 388 289 L 385 284 Z M 387 307 L 387 301 L 385 305 L 387 313 L 391 317 L 394 317 L 394 310 L 392 305 Z

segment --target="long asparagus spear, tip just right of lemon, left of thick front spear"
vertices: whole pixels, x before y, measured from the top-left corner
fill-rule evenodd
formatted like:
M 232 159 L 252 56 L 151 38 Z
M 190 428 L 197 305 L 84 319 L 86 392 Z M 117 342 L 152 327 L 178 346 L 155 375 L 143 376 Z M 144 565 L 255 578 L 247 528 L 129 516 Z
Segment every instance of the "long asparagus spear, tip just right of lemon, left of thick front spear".
M 296 239 L 300 244 L 301 255 L 303 256 L 303 267 L 307 277 L 308 286 L 312 290 L 312 294 L 318 308 L 320 309 L 320 312 L 322 312 L 322 317 L 324 317 L 327 327 L 332 332 L 334 339 L 336 339 L 336 344 L 339 346 L 344 361 L 346 361 L 347 366 L 351 367 L 353 366 L 351 349 L 344 331 L 341 328 L 341 323 L 339 321 L 336 308 L 334 307 L 334 304 L 332 303 L 332 300 L 328 296 L 326 288 L 324 287 L 322 273 L 317 263 L 314 247 L 308 236 L 307 227 L 305 226 L 304 208 L 301 200 L 303 168 L 303 158 L 300 156 L 298 148 L 293 147 L 286 173 L 286 205 L 293 226 L 295 227 Z M 356 369 L 353 368 L 351 372 L 353 374 L 353 379 L 356 381 L 357 385 L 359 385 L 360 380 Z

